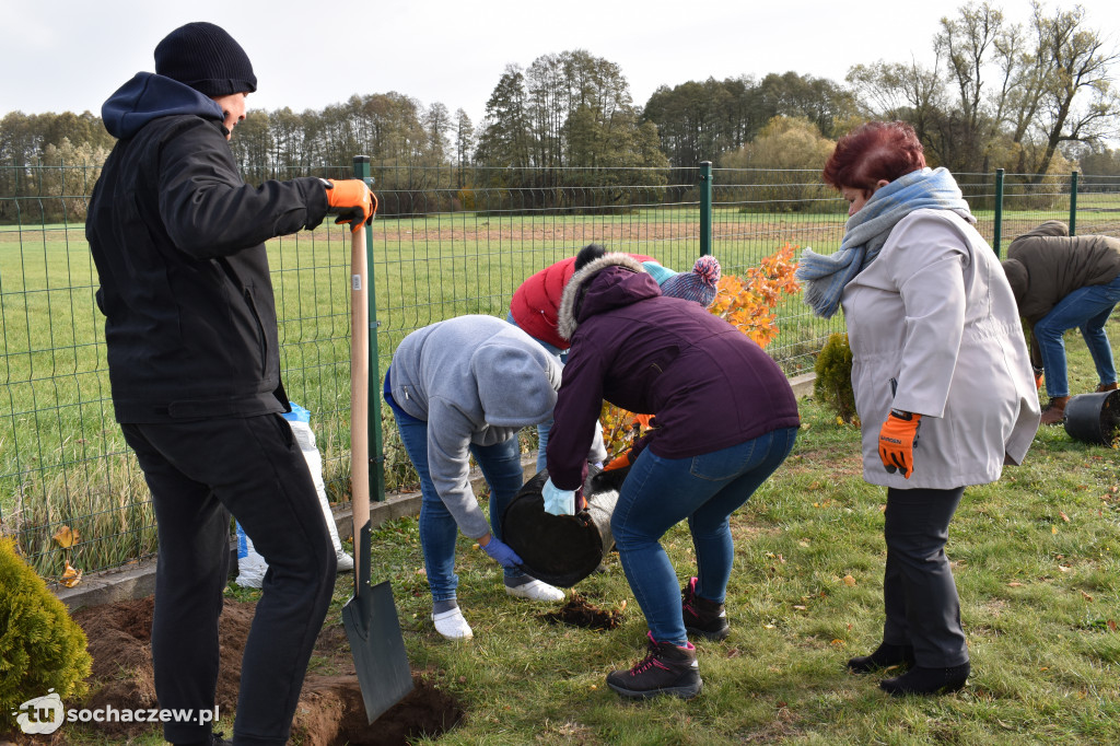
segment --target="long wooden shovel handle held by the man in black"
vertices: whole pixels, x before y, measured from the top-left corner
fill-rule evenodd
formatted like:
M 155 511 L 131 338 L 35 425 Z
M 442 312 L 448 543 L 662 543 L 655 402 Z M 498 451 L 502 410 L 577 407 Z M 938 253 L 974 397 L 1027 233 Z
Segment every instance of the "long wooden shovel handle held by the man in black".
M 367 561 L 358 542 L 370 522 L 370 289 L 365 225 L 351 234 L 351 507 L 354 516 L 354 577 Z M 368 568 L 365 568 L 368 572 Z

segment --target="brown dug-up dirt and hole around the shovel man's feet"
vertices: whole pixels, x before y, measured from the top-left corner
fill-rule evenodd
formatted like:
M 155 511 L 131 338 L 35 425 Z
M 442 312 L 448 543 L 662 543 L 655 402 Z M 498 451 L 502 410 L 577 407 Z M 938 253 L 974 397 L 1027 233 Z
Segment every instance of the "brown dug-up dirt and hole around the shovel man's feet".
M 74 613 L 90 641 L 93 666 L 87 708 L 155 708 L 151 666 L 151 616 L 153 598 L 93 606 Z M 253 621 L 255 604 L 226 599 L 218 626 L 221 666 L 217 682 L 220 712 L 237 703 L 241 656 Z M 330 622 L 316 641 L 311 671 L 304 681 L 292 722 L 292 737 L 307 746 L 342 744 L 404 745 L 421 736 L 435 737 L 455 727 L 464 710 L 449 693 L 424 675 L 413 674 L 416 689 L 371 726 L 349 643 L 342 625 Z M 148 724 L 97 724 L 99 735 L 129 738 L 155 730 Z M 63 744 L 65 731 L 52 743 Z M 230 734 L 226 734 L 227 737 Z

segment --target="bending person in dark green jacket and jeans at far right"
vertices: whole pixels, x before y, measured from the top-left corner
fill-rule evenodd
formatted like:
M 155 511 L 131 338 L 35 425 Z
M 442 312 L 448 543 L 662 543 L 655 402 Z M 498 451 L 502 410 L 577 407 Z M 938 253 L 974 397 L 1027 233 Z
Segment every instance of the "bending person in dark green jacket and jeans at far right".
M 1104 324 L 1120 302 L 1120 239 L 1074 237 L 1065 223 L 1046 221 L 1012 241 L 1002 264 L 1019 316 L 1030 327 L 1030 363 L 1049 397 L 1042 423 L 1061 425 L 1070 401 L 1066 329 L 1080 329 L 1089 346 L 1100 377 L 1096 391 L 1117 388 Z

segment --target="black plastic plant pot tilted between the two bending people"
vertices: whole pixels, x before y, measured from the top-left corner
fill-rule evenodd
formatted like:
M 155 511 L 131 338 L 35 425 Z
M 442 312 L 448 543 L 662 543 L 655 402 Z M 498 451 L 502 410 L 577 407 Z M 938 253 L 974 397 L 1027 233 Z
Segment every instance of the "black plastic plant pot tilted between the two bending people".
M 538 472 L 516 494 L 502 516 L 502 540 L 525 562 L 529 575 L 570 588 L 591 572 L 610 551 L 610 514 L 629 467 L 588 474 L 587 509 L 576 515 L 544 512 L 541 491 L 548 469 Z

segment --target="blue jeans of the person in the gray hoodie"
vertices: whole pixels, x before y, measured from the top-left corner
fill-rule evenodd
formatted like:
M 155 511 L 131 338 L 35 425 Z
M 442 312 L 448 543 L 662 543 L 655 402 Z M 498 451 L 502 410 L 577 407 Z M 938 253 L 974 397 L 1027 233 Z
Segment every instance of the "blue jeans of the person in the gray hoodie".
M 420 548 L 428 572 L 428 586 L 435 602 L 455 598 L 459 576 L 455 574 L 455 542 L 459 528 L 451 513 L 444 505 L 431 481 L 428 469 L 428 423 L 405 413 L 396 402 L 390 400 L 396 419 L 396 430 L 401 433 L 404 450 L 420 477 Z M 470 454 L 478 463 L 486 484 L 489 485 L 491 533 L 502 539 L 502 515 L 521 489 L 524 472 L 521 468 L 521 447 L 514 436 L 494 446 L 470 445 Z M 510 585 L 517 585 L 523 572 L 506 569 L 504 576 Z

